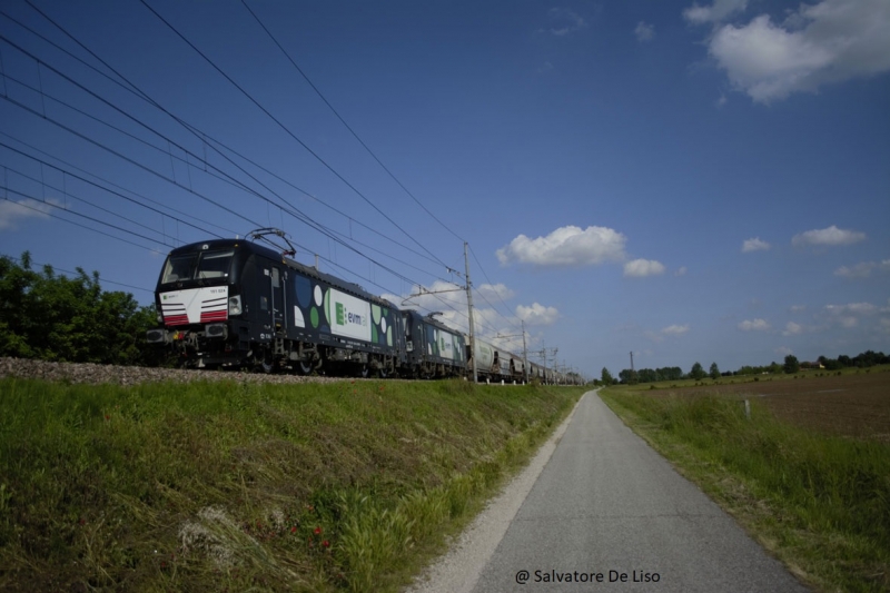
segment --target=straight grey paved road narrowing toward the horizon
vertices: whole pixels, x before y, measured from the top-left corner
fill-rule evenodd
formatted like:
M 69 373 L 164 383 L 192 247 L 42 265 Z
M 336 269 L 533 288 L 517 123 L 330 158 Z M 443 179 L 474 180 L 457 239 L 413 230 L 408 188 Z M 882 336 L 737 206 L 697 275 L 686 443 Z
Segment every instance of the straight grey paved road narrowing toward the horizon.
M 807 591 L 595 393 L 474 581 L 475 593 Z

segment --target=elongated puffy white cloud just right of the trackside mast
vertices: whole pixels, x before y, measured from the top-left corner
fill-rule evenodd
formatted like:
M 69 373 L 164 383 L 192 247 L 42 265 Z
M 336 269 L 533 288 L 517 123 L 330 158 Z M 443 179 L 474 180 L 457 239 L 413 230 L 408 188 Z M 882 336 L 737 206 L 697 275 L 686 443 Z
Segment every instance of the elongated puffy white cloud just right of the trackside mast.
M 561 227 L 547 235 L 530 239 L 520 235 L 496 251 L 502 266 L 513 261 L 542 267 L 589 266 L 604 261 L 623 261 L 624 243 L 621 233 L 605 227 Z

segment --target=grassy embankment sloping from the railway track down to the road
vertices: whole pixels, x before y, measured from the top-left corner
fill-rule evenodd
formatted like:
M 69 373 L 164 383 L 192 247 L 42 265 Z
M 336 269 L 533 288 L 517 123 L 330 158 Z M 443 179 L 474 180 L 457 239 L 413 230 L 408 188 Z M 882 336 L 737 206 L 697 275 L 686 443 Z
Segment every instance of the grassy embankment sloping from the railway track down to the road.
M 395 590 L 583 391 L 0 379 L 0 590 Z

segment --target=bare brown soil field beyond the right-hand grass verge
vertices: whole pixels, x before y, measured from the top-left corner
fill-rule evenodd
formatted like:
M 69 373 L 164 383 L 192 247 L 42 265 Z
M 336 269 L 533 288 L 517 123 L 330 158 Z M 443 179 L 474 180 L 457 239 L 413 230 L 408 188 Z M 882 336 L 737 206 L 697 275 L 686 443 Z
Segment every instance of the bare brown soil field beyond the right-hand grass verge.
M 849 373 L 849 372 L 848 372 Z M 749 379 L 750 380 L 750 379 Z M 802 378 L 760 378 L 700 387 L 674 387 L 652 395 L 719 393 L 759 397 L 782 419 L 821 431 L 890 442 L 890 369 L 824 373 Z

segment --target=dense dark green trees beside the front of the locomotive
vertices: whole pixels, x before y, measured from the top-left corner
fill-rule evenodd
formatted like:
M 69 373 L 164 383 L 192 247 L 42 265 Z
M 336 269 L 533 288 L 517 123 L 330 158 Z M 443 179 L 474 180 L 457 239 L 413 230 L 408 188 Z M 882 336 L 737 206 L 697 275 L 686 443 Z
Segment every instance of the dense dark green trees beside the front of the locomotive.
M 52 266 L 31 269 L 24 251 L 16 263 L 0 256 L 0 356 L 67 363 L 155 365 L 146 332 L 155 306 L 102 290 L 99 273 L 77 268 L 69 278 Z

